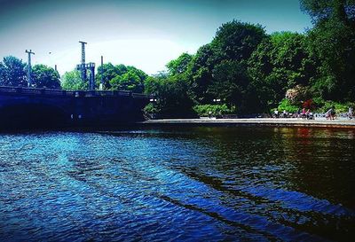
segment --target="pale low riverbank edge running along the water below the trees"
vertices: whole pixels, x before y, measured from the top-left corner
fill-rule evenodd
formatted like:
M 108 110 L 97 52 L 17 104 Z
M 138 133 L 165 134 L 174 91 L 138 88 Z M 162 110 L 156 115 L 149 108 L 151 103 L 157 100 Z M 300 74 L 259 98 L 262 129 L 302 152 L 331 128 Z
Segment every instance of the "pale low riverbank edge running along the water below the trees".
M 149 120 L 141 122 L 147 126 L 296 126 L 296 127 L 323 127 L 323 128 L 347 128 L 355 129 L 355 120 L 339 118 L 333 121 L 325 118 L 316 120 L 303 120 L 292 118 L 256 118 L 256 119 L 216 119 L 216 118 L 200 118 L 200 119 L 164 119 Z

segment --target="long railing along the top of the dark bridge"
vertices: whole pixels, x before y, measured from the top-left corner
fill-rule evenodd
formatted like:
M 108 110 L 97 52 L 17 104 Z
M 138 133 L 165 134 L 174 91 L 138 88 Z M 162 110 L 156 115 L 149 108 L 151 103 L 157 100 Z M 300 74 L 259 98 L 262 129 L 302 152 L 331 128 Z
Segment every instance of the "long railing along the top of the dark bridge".
M 133 93 L 128 90 L 53 90 L 53 89 L 36 89 L 22 87 L 0 86 L 0 93 L 13 93 L 24 95 L 43 95 L 43 96 L 64 96 L 64 97 L 132 97 L 132 98 L 152 98 L 141 93 Z

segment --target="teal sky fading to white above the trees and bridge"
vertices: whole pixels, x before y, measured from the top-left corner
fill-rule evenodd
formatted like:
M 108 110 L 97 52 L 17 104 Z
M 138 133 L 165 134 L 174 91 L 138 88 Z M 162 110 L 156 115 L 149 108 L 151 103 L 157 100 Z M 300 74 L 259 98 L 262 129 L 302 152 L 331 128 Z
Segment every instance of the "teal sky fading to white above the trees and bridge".
M 75 68 L 86 62 L 136 66 L 156 74 L 183 52 L 194 54 L 223 23 L 261 24 L 267 33 L 312 27 L 298 0 L 0 0 L 0 59 Z

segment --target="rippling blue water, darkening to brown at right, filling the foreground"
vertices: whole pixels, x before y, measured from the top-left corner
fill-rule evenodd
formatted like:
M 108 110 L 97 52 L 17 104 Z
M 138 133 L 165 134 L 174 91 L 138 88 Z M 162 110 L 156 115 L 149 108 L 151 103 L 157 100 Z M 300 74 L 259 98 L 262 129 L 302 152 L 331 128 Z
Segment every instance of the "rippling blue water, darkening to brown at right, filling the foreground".
M 351 241 L 355 130 L 0 135 L 0 241 Z

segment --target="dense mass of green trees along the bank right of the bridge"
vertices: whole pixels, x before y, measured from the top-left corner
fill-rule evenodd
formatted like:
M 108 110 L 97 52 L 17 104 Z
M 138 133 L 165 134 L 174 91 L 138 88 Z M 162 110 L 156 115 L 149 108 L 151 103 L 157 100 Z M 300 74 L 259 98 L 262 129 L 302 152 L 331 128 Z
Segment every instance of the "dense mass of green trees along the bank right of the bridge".
M 212 42 L 194 55 L 184 53 L 171 60 L 168 74 L 146 83 L 146 91 L 164 100 L 150 109 L 159 113 L 165 105 L 170 110 L 191 105 L 206 113 L 206 108 L 225 110 L 226 105 L 236 113 L 267 113 L 273 108 L 295 112 L 305 104 L 319 110 L 329 104 L 343 108 L 337 104 L 354 102 L 355 1 L 300 4 L 314 23 L 304 34 L 266 35 L 259 25 L 233 20 L 219 27 Z M 184 87 L 178 90 L 185 102 L 177 98 L 168 104 L 174 96 L 170 88 L 177 82 Z

